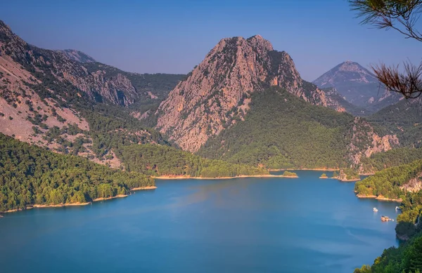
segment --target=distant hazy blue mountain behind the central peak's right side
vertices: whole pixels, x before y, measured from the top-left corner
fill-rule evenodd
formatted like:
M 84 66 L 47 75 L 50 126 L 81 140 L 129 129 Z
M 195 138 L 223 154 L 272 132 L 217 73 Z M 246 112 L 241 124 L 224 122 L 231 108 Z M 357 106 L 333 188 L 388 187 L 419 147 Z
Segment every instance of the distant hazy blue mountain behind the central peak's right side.
M 376 112 L 402 98 L 381 88 L 378 79 L 368 69 L 352 61 L 340 63 L 312 83 L 319 88 L 335 88 L 347 102 L 364 109 L 358 113 L 361 115 Z

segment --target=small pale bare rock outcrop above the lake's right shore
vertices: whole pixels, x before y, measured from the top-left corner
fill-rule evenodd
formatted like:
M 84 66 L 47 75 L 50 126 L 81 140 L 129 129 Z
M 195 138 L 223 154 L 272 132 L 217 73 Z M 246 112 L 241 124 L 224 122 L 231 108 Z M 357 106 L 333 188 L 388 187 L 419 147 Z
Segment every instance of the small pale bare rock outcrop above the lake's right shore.
M 399 146 L 397 135 L 384 135 L 381 137 L 373 131 L 368 121 L 356 117 L 353 121 L 351 142 L 347 145 L 348 156 L 353 166 L 359 166 L 362 157 L 371 157 L 377 152 L 387 152 Z

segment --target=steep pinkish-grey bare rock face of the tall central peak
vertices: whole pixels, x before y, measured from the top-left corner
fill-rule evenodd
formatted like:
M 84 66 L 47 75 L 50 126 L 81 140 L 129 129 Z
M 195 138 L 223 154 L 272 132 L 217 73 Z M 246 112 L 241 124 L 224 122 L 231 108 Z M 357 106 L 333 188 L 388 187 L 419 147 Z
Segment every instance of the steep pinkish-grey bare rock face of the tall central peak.
M 234 37 L 219 41 L 170 92 L 158 109 L 157 127 L 182 149 L 195 152 L 234 116 L 243 119 L 250 93 L 269 86 L 326 106 L 324 92 L 302 81 L 288 53 L 274 51 L 260 35 Z

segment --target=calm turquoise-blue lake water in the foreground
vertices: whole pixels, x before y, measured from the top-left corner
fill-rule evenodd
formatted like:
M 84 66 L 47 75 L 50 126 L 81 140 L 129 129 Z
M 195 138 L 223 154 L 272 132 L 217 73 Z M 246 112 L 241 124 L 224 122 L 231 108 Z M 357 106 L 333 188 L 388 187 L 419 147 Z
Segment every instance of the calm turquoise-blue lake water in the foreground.
M 395 203 L 354 183 L 158 180 L 158 189 L 0 219 L 0 272 L 352 273 L 397 245 Z M 378 213 L 373 213 L 376 206 Z

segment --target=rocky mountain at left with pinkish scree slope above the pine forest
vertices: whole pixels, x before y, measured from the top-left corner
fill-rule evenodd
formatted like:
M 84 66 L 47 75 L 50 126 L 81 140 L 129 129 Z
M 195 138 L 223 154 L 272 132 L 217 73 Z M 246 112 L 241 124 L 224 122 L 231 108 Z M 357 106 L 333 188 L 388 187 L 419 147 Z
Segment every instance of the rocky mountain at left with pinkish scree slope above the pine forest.
M 145 93 L 132 81 L 153 89 L 168 83 L 167 75 L 160 75 L 160 83 L 141 75 L 131 81 L 120 70 L 89 72 L 88 63 L 94 62 L 83 64 L 63 52 L 27 44 L 0 21 L 0 133 L 113 167 L 122 167 L 113 152 L 118 146 L 167 145 L 127 108 L 141 104 Z

